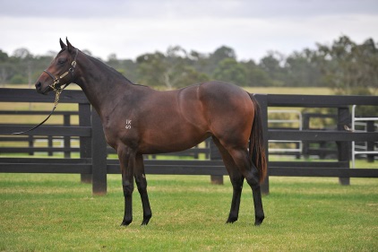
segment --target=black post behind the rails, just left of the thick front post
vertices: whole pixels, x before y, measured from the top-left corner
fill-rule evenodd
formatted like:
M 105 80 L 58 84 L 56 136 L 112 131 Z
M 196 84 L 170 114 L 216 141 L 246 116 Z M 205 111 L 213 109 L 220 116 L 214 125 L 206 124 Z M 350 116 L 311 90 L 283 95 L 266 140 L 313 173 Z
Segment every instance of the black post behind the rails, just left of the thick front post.
M 90 126 L 90 104 L 79 103 L 79 126 Z M 91 137 L 80 137 L 80 157 L 82 159 L 91 157 Z M 81 174 L 82 183 L 91 183 L 91 174 Z

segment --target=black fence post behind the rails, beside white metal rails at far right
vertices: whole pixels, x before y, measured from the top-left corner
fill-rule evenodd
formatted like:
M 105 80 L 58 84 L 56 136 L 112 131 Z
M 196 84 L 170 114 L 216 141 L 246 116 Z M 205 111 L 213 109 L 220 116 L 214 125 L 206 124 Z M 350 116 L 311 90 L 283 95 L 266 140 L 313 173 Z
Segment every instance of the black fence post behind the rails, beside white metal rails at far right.
M 351 117 L 349 113 L 348 107 L 338 108 L 338 130 L 345 131 L 345 126 L 350 127 L 351 124 Z M 336 142 L 338 145 L 338 159 L 339 161 L 347 161 L 348 166 L 346 169 L 350 169 L 349 161 L 349 153 L 350 153 L 350 143 L 349 142 Z M 350 185 L 350 178 L 339 178 L 339 184 L 342 186 L 349 186 Z

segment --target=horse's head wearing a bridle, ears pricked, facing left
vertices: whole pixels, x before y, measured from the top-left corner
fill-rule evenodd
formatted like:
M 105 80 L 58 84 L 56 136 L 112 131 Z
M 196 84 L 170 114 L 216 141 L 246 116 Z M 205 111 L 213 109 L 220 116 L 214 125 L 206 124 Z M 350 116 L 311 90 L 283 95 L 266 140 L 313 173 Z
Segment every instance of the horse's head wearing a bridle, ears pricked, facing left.
M 47 66 L 47 69 L 40 74 L 36 82 L 36 90 L 39 93 L 47 94 L 49 91 L 59 90 L 63 85 L 66 86 L 73 82 L 73 72 L 76 67 L 76 57 L 79 50 L 74 48 L 68 39 L 66 39 L 66 42 L 67 45 L 60 39 L 62 50 Z

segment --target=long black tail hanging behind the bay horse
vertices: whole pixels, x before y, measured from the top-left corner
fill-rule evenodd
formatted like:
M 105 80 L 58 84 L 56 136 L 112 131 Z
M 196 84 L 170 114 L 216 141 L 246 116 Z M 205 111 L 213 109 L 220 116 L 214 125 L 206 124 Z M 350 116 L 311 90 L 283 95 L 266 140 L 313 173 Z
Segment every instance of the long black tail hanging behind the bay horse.
M 249 153 L 252 157 L 254 165 L 259 170 L 260 183 L 262 183 L 267 173 L 267 161 L 262 130 L 262 115 L 260 105 L 257 100 L 254 99 L 252 94 L 249 94 L 249 96 L 251 97 L 254 107 L 253 125 L 251 129 L 251 136 L 249 137 Z

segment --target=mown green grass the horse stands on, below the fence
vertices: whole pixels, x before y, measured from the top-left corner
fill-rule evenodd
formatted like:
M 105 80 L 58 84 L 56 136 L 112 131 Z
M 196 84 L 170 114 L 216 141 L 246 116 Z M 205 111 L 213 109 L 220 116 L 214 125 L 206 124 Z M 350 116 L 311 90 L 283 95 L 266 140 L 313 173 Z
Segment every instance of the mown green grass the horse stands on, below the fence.
M 107 196 L 91 196 L 77 175 L 0 174 L 0 251 L 374 251 L 378 248 L 378 179 L 271 178 L 267 218 L 253 226 L 245 186 L 239 220 L 225 224 L 232 189 L 207 176 L 148 176 L 153 217 L 120 227 L 120 176 Z

